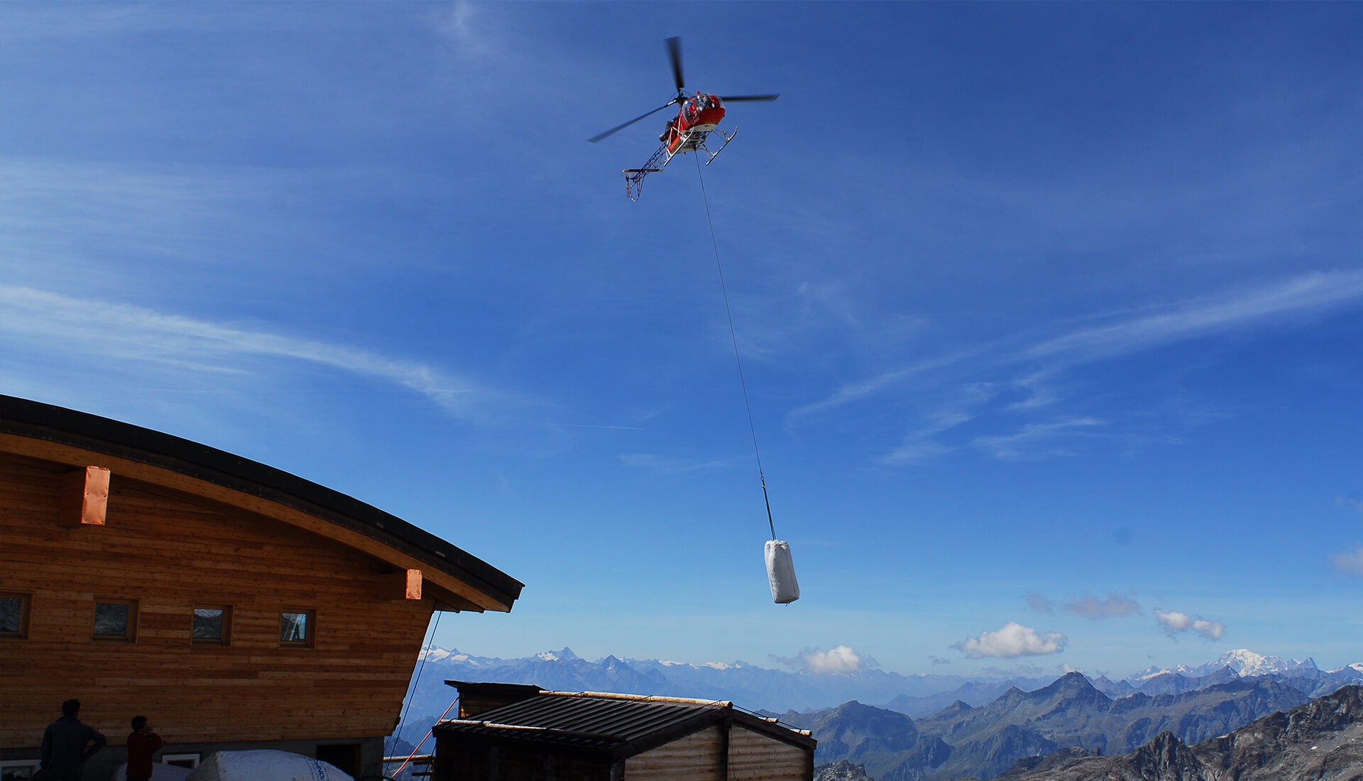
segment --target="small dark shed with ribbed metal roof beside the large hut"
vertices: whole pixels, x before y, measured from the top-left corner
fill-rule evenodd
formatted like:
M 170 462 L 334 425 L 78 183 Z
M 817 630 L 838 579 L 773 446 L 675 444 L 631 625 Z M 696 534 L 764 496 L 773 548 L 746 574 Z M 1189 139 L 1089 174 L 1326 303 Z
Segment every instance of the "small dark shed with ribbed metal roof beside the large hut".
M 811 781 L 815 740 L 732 702 L 446 682 L 433 781 Z

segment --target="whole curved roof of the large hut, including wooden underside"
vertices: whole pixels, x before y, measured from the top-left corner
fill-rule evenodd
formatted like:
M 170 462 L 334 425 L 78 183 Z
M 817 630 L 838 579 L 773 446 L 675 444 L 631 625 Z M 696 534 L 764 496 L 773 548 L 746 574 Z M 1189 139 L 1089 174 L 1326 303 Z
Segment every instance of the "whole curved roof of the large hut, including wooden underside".
M 0 395 L 0 450 L 120 474 L 224 502 L 421 570 L 438 609 L 510 611 L 523 583 L 458 547 L 273 466 L 159 431 Z M 91 455 L 101 457 L 91 459 Z

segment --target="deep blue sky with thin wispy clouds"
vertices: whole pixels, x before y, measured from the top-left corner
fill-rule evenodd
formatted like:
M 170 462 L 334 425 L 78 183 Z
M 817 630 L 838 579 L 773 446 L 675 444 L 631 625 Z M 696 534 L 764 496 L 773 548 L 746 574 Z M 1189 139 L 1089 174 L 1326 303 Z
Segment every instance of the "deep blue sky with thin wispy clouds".
M 619 170 L 687 85 L 741 132 Z M 1363 5 L 0 5 L 0 387 L 815 669 L 1363 649 Z M 842 649 L 842 650 L 840 650 Z M 799 662 L 796 662 L 799 664 Z

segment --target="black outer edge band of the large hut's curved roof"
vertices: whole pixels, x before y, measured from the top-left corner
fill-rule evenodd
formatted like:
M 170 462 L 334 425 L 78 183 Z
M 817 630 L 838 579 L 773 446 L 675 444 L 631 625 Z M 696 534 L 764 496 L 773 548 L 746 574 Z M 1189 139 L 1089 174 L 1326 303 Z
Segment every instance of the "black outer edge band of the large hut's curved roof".
M 169 469 L 301 510 L 425 562 L 508 608 L 523 587 L 483 559 L 372 504 L 188 439 L 11 395 L 0 395 L 0 432 Z

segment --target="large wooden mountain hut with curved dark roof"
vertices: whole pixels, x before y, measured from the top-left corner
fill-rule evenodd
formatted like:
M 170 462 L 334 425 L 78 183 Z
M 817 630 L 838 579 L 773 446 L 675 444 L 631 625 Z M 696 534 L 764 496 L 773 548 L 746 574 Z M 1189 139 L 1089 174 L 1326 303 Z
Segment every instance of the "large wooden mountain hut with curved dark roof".
M 522 583 L 315 483 L 166 433 L 0 397 L 0 769 L 68 698 L 110 748 L 279 748 L 382 769 L 435 611 Z

